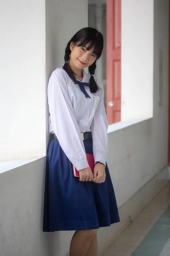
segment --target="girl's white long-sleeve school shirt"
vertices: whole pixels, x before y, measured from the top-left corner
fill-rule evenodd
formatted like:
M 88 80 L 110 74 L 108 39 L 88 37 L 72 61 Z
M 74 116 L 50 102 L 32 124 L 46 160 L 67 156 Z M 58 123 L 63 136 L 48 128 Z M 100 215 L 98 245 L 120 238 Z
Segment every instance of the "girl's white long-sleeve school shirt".
M 103 85 L 96 81 L 100 87 L 96 93 L 85 86 L 91 97 L 86 98 L 62 67 L 54 70 L 48 82 L 49 132 L 56 134 L 62 150 L 78 171 L 89 166 L 81 133 L 92 132 L 94 160 L 106 164 L 108 120 Z M 89 83 L 90 75 L 82 71 L 82 82 Z

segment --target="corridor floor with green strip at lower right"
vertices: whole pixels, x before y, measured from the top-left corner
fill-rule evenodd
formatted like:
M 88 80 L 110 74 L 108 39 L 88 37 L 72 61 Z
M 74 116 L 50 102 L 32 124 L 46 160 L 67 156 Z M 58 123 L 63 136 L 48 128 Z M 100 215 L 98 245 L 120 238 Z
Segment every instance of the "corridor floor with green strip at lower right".
M 170 256 L 170 187 L 156 195 L 103 256 Z

